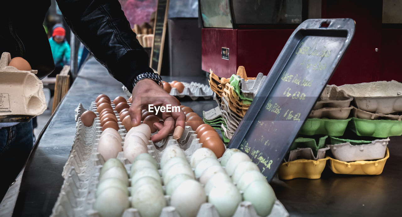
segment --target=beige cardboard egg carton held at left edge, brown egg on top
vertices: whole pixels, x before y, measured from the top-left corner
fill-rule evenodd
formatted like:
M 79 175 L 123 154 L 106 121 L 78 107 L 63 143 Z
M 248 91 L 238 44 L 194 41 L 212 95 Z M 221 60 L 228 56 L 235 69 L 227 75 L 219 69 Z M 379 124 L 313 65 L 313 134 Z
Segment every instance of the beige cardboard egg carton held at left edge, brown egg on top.
M 46 110 L 43 83 L 38 71 L 22 71 L 8 66 L 10 53 L 0 59 L 0 122 L 27 122 Z

